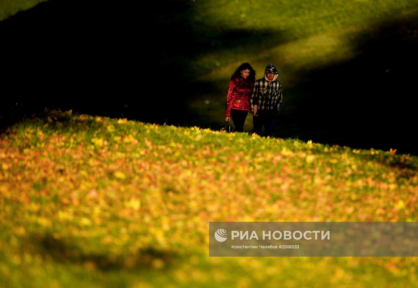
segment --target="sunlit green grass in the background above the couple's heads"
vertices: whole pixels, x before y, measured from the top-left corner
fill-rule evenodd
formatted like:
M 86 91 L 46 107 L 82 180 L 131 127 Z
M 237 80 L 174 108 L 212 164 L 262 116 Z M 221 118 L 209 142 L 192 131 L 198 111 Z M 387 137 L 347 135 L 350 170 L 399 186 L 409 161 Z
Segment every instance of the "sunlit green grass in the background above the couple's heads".
M 196 74 L 206 75 L 209 71 L 216 71 L 218 76 L 227 78 L 232 74 L 233 68 L 243 61 L 251 61 L 254 68 L 263 75 L 265 58 L 276 63 L 283 76 L 293 74 L 299 67 L 291 67 L 294 62 L 298 64 L 299 57 L 291 57 L 291 61 L 285 59 L 285 53 L 271 53 L 271 48 L 280 48 L 283 44 L 291 45 L 291 50 L 302 58 L 314 61 L 316 53 L 329 46 L 329 41 L 317 41 L 315 47 L 304 50 L 299 43 L 301 39 L 316 37 L 321 40 L 322 36 L 330 36 L 335 39 L 342 38 L 342 42 L 334 45 L 333 53 L 345 45 L 348 31 L 361 32 L 374 25 L 395 18 L 408 18 L 408 14 L 417 10 L 416 1 L 403 0 L 379 0 L 379 1 L 326 1 L 326 0 L 296 0 L 296 1 L 227 1 L 212 0 L 200 1 L 194 4 L 191 16 L 191 29 L 196 33 L 197 42 L 205 42 L 207 38 L 213 38 L 213 51 L 205 51 L 197 57 Z M 186 18 L 188 15 L 183 15 Z M 255 31 L 255 35 L 247 33 L 242 36 L 239 45 L 235 46 L 234 40 L 221 43 L 219 36 L 222 31 Z M 270 35 L 263 37 L 262 41 L 254 41 L 258 33 L 268 32 Z M 345 40 L 345 41 L 344 41 Z M 298 42 L 299 41 L 299 42 Z M 290 42 L 290 43 L 289 43 Z M 234 45 L 231 45 L 234 44 Z M 323 46 L 322 46 L 323 45 Z M 216 49 L 218 48 L 218 49 Z M 265 51 L 265 50 L 268 51 Z M 342 57 L 350 59 L 352 55 Z M 319 61 L 319 59 L 316 59 Z M 332 62 L 334 59 L 328 59 Z M 283 63 L 284 62 L 284 63 Z M 219 73 L 217 63 L 226 69 Z M 283 64 L 291 64 L 283 67 Z M 232 66 L 229 66 L 232 65 Z M 228 66 L 225 67 L 225 66 Z M 312 65 L 314 68 L 316 65 Z M 205 69 L 206 68 L 206 69 Z

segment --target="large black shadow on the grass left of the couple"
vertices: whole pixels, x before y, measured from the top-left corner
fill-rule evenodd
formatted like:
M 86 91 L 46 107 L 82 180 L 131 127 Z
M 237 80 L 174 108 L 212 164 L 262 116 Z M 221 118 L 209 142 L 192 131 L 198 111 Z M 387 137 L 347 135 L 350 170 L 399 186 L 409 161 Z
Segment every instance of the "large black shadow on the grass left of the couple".
M 192 60 L 209 52 L 251 57 L 292 38 L 208 26 L 194 18 L 196 9 L 183 0 L 149 2 L 146 9 L 135 1 L 49 0 L 19 12 L 0 22 L 8 55 L 5 100 L 29 106 L 24 113 L 31 114 L 48 107 L 190 125 L 198 115 L 185 103 L 206 89 L 191 80 L 217 65 L 198 70 Z M 20 97 L 35 94 L 41 97 L 34 102 Z

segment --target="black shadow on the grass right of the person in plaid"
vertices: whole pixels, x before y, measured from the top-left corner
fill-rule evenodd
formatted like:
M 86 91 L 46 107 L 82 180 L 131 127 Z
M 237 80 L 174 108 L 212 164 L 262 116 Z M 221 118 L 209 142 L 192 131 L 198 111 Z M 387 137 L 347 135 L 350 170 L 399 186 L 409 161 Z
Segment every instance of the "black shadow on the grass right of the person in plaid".
M 352 35 L 355 59 L 285 87 L 275 135 L 418 154 L 417 23 L 413 15 Z

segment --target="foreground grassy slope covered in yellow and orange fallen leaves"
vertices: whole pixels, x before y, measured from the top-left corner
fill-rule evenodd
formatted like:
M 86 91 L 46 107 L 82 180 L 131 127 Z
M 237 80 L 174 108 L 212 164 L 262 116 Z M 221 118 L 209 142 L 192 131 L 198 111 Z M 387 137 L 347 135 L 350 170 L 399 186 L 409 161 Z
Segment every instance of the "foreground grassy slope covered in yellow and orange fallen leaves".
M 410 287 L 416 257 L 208 257 L 209 221 L 417 221 L 418 158 L 71 112 L 0 138 L 7 287 Z

